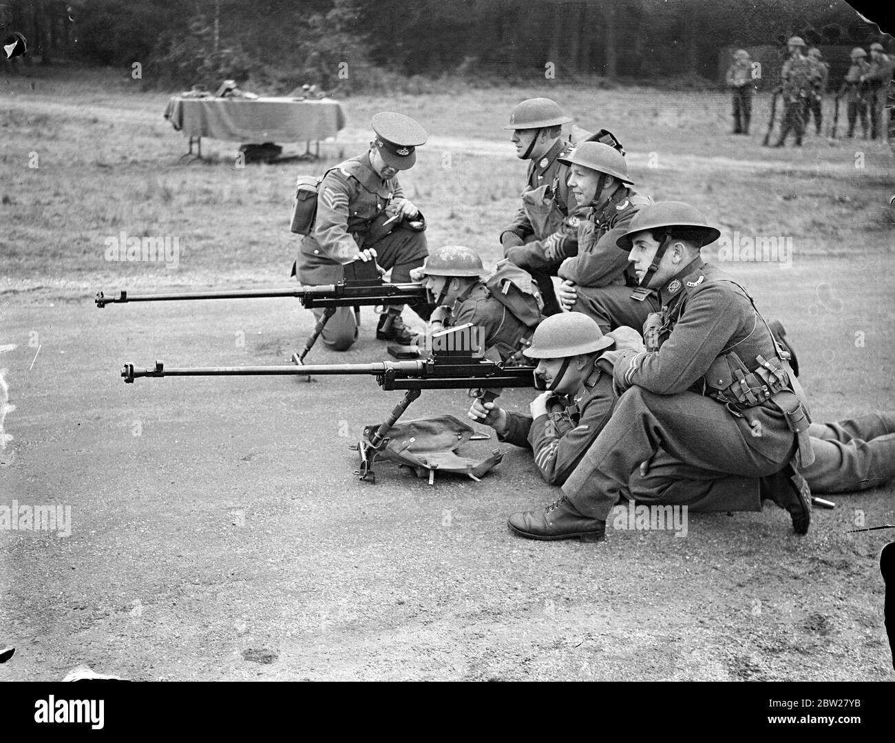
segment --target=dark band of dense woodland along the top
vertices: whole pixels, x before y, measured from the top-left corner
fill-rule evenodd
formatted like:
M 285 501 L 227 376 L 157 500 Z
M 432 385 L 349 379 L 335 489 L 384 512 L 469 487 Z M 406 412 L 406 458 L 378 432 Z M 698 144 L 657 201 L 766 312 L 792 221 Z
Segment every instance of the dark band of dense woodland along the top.
M 715 80 L 731 46 L 891 40 L 839 0 L 8 0 L 0 17 L 29 39 L 19 64 L 344 92 L 412 76 Z

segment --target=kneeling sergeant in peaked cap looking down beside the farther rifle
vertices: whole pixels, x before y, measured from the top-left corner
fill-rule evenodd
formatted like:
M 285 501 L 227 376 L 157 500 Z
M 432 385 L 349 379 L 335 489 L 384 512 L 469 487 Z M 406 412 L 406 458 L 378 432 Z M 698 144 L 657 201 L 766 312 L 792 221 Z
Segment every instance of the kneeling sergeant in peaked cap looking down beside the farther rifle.
M 376 260 L 381 268 L 391 269 L 392 281 L 406 282 L 428 254 L 425 220 L 397 178 L 398 172 L 413 167 L 426 132 L 409 116 L 392 112 L 373 116 L 371 125 L 376 136 L 370 149 L 328 170 L 320 183 L 317 215 L 311 233 L 302 238 L 293 269 L 305 286 L 341 280 L 342 266 L 358 258 Z M 428 305 L 411 306 L 428 318 Z M 401 310 L 401 305 L 391 305 L 379 316 L 377 338 L 412 341 Z M 319 318 L 322 310 L 314 313 Z M 357 334 L 354 312 L 340 307 L 321 337 L 333 350 L 345 351 Z

